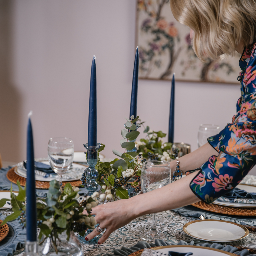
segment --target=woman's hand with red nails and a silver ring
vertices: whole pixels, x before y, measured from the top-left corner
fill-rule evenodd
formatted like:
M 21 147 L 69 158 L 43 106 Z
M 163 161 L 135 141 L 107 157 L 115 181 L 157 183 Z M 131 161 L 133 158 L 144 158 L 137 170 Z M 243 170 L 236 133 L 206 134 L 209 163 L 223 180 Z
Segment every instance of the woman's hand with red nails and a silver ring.
M 129 199 L 98 205 L 92 208 L 91 214 L 96 215 L 94 218 L 97 223 L 100 223 L 100 228 L 106 228 L 104 234 L 98 241 L 98 244 L 103 243 L 113 231 L 125 226 L 136 218 L 132 212 L 132 206 Z M 100 232 L 95 228 L 85 239 L 91 240 L 99 233 Z

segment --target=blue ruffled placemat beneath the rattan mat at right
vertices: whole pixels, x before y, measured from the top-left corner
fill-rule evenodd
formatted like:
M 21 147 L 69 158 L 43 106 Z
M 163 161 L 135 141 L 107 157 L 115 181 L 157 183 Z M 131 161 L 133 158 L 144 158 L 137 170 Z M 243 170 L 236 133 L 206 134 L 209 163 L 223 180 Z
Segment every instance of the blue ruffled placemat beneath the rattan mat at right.
M 192 205 L 176 208 L 176 209 L 173 209 L 172 211 L 178 214 L 181 214 L 185 217 L 199 218 L 200 215 L 202 215 L 206 219 L 226 220 L 226 221 L 231 221 L 241 225 L 256 226 L 255 217 L 252 217 L 252 216 L 247 217 L 247 216 L 232 216 L 232 215 L 225 215 L 225 214 L 216 214 L 214 212 L 209 212 L 209 211 L 196 208 Z

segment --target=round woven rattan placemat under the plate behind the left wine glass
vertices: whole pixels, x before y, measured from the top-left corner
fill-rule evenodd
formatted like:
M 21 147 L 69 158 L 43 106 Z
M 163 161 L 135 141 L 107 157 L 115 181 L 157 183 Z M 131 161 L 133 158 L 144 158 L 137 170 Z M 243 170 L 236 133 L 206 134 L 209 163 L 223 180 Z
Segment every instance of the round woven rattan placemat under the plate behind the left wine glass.
M 8 172 L 6 174 L 6 177 L 8 178 L 8 180 L 10 182 L 13 182 L 13 183 L 17 184 L 17 180 L 18 180 L 20 182 L 21 186 L 25 186 L 26 178 L 21 177 L 18 174 L 16 174 L 14 172 L 14 167 L 8 170 Z M 65 185 L 66 183 L 67 182 L 63 182 L 63 185 Z M 82 181 L 81 180 L 74 180 L 74 181 L 70 181 L 69 183 L 72 186 L 79 187 L 79 184 L 82 184 Z M 36 188 L 48 189 L 49 186 L 50 186 L 50 183 L 47 182 L 47 181 L 36 180 Z

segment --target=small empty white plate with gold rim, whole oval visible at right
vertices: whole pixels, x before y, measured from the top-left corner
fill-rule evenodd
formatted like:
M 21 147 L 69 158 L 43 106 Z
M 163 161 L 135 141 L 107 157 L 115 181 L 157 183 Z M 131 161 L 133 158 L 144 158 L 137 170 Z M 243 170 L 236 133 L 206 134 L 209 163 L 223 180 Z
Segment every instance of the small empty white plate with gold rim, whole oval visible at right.
M 231 242 L 249 235 L 246 227 L 225 220 L 194 220 L 183 226 L 183 231 L 191 237 L 212 241 Z

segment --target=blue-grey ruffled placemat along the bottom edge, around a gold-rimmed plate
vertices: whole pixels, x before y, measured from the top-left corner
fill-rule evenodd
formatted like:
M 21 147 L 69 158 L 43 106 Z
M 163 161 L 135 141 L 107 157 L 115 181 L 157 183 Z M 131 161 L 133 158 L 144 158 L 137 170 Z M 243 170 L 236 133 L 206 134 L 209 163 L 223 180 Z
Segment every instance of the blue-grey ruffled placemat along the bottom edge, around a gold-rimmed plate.
M 128 256 L 129 254 L 136 252 L 138 250 L 144 249 L 144 248 L 150 248 L 150 247 L 158 247 L 158 246 L 167 246 L 167 245 L 194 245 L 194 241 L 191 241 L 190 243 L 187 243 L 185 241 L 179 241 L 179 243 L 169 243 L 165 242 L 164 240 L 161 239 L 156 239 L 155 243 L 149 244 L 147 242 L 138 242 L 134 246 L 127 248 L 127 247 L 122 247 L 121 249 L 115 249 L 114 254 L 110 253 L 105 253 L 103 256 Z M 210 248 L 215 248 L 219 249 L 225 252 L 230 252 L 230 253 L 235 253 L 240 256 L 256 256 L 256 254 L 250 254 L 248 250 L 244 249 L 242 251 L 238 251 L 236 247 L 227 245 L 227 246 L 222 246 L 221 244 L 218 243 L 204 243 L 204 244 L 197 244 L 195 246 L 204 246 L 204 247 L 210 247 Z M 175 250 L 175 249 L 172 249 Z

